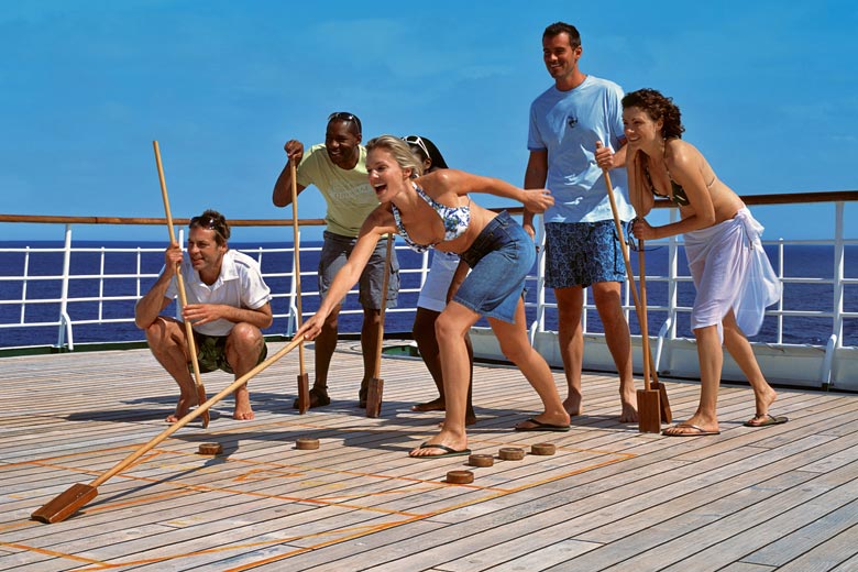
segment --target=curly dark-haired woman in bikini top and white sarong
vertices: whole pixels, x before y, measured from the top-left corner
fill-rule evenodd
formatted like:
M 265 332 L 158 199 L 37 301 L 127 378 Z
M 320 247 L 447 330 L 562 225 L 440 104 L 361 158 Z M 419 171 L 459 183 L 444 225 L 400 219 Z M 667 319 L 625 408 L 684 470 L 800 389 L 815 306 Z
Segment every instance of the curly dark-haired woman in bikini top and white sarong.
M 685 254 L 697 295 L 691 328 L 697 341 L 701 399 L 686 421 L 662 431 L 671 437 L 717 435 L 717 400 L 724 354 L 722 343 L 754 388 L 756 415 L 745 425 L 787 421 L 769 415 L 777 394 L 757 364 L 747 336 L 762 324 L 766 307 L 780 297 L 780 283 L 762 250 L 762 227 L 715 175 L 703 154 L 682 141 L 681 114 L 671 98 L 653 89 L 623 98 L 628 151 L 629 198 L 638 218 L 632 231 L 641 240 L 684 235 Z M 667 197 L 680 220 L 651 227 L 646 217 L 654 197 Z

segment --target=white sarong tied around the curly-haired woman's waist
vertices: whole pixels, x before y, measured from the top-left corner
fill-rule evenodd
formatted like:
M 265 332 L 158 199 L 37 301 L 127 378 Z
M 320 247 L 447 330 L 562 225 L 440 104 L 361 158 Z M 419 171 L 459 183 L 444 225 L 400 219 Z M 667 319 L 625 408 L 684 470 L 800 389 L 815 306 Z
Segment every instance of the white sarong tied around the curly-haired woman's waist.
M 762 226 L 747 208 L 730 220 L 685 233 L 685 255 L 697 288 L 691 329 L 718 327 L 733 308 L 746 336 L 756 336 L 766 307 L 781 297 L 782 285 L 762 249 Z

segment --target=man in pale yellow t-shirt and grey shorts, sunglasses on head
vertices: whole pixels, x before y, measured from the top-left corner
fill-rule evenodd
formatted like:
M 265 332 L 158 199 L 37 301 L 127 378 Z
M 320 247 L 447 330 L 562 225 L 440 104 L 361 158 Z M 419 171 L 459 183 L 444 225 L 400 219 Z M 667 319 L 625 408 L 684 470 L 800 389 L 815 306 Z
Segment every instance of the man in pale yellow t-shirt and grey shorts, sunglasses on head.
M 361 145 L 361 120 L 344 111 L 331 113 L 324 143 L 314 145 L 307 154 L 304 153 L 304 143 L 297 140 L 288 141 L 284 148 L 289 160 L 294 160 L 298 165 L 298 194 L 309 185 L 315 185 L 328 204 L 328 212 L 324 216 L 324 244 L 319 260 L 319 292 L 324 297 L 333 276 L 351 254 L 361 224 L 378 206 L 375 190 L 366 175 L 366 150 Z M 272 200 L 277 207 L 292 204 L 292 172 L 288 162 L 274 185 Z M 378 353 L 384 261 L 385 244 L 380 242 L 360 279 L 360 301 L 363 306 L 363 381 L 359 393 L 361 407 L 366 407 L 366 387 L 375 372 Z M 396 306 L 398 292 L 399 263 L 394 253 L 391 258 L 387 307 Z M 328 370 L 337 349 L 337 322 L 341 308 L 342 300 L 328 316 L 321 333 L 316 338 L 316 381 L 310 389 L 310 407 L 328 405 L 331 402 L 328 396 Z

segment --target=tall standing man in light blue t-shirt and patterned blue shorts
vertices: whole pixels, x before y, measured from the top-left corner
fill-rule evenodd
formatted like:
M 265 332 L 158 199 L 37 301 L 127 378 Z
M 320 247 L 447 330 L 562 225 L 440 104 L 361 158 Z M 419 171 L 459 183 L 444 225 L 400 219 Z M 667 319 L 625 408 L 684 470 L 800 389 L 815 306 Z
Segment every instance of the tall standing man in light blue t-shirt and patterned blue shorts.
M 581 415 L 581 366 L 584 334 L 581 316 L 584 288 L 593 293 L 605 341 L 619 373 L 620 421 L 637 420 L 637 395 L 631 376 L 631 344 L 623 314 L 622 284 L 626 265 L 608 200 L 603 168 L 610 175 L 619 219 L 634 210 L 626 188 L 623 90 L 613 81 L 588 76 L 579 67 L 581 35 L 575 26 L 557 22 L 542 34 L 542 59 L 554 85 L 530 106 L 527 147 L 530 158 L 525 188 L 547 187 L 554 205 L 544 212 L 546 286 L 558 307 L 558 338 L 569 396 L 569 415 Z M 596 143 L 602 143 L 596 148 Z M 615 153 L 616 152 L 616 153 Z M 524 227 L 534 235 L 534 213 L 525 211 Z

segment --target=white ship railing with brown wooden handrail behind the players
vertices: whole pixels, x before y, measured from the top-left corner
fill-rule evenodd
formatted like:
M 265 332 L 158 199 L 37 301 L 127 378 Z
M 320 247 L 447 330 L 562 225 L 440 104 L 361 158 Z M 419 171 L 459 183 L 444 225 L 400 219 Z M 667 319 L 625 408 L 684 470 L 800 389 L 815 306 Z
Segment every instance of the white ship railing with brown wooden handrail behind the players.
M 811 205 L 811 204 L 828 204 L 834 206 L 834 213 L 831 217 L 831 223 L 826 226 L 831 228 L 831 237 L 821 240 L 785 240 L 785 239 L 770 239 L 763 243 L 767 246 L 773 246 L 776 254 L 772 255 L 772 263 L 780 280 L 784 286 L 791 284 L 806 284 L 817 286 L 828 286 L 832 289 L 831 304 L 824 305 L 824 308 L 816 309 L 785 309 L 783 304 L 783 297 L 773 307 L 770 307 L 767 311 L 767 316 L 773 317 L 777 321 L 777 328 L 774 336 L 771 340 L 766 341 L 766 345 L 770 346 L 788 346 L 788 345 L 803 345 L 813 346 L 820 351 L 825 352 L 825 360 L 822 366 L 820 377 L 822 380 L 828 380 L 832 375 L 833 364 L 836 362 L 835 354 L 844 348 L 855 348 L 856 341 L 847 339 L 844 336 L 844 322 L 856 323 L 858 312 L 854 311 L 854 308 L 844 308 L 845 292 L 848 287 L 855 287 L 858 284 L 858 279 L 848 277 L 846 275 L 845 267 L 845 252 L 848 246 L 855 246 L 858 241 L 853 238 L 846 237 L 846 211 L 848 208 L 855 207 L 855 201 L 858 200 L 858 191 L 824 191 L 824 193 L 805 193 L 805 194 L 782 194 L 782 195 L 755 195 L 744 196 L 746 205 L 749 207 L 760 207 L 761 209 L 778 209 L 781 206 L 795 207 L 796 205 Z M 664 204 L 658 204 L 658 208 L 669 208 Z M 507 209 L 514 215 L 520 215 L 521 209 Z M 777 210 L 773 210 L 777 216 Z M 850 211 L 851 212 L 851 211 Z M 760 220 L 767 220 L 769 216 L 763 212 L 758 212 L 755 208 L 755 215 Z M 670 220 L 678 219 L 678 211 L 670 209 Z M 541 218 L 538 218 L 538 220 Z M 541 221 L 540 221 L 541 222 Z M 157 276 L 157 272 L 163 265 L 163 252 L 164 246 L 158 245 L 155 248 L 88 248 L 79 246 L 73 242 L 73 230 L 81 227 L 86 227 L 88 230 L 91 226 L 123 226 L 129 228 L 135 228 L 141 226 L 166 226 L 165 219 L 158 218 L 108 218 L 108 217 L 52 217 L 52 216 L 18 216 L 18 215 L 0 215 L 0 223 L 3 224 L 18 224 L 30 223 L 38 226 L 59 226 L 64 229 L 63 246 L 62 248 L 40 248 L 24 245 L 20 248 L 3 248 L 0 249 L 0 255 L 16 254 L 20 256 L 20 265 L 14 268 L 7 267 L 0 270 L 0 282 L 16 283 L 20 285 L 19 295 L 7 296 L 0 299 L 0 349 L 2 346 L 15 346 L 15 344 L 4 343 L 4 331 L 21 331 L 28 329 L 55 327 L 57 328 L 57 334 L 53 344 L 55 350 L 74 350 L 75 349 L 75 328 L 84 324 L 122 324 L 124 327 L 133 328 L 133 304 L 146 292 L 148 286 L 154 282 Z M 175 219 L 174 223 L 179 230 L 179 242 L 184 244 L 184 228 L 188 223 L 188 219 Z M 258 232 L 261 228 L 271 228 L 272 238 L 265 238 L 258 240 L 260 244 L 268 243 L 282 243 L 284 248 L 272 246 L 258 246 L 258 248 L 242 248 L 241 250 L 260 261 L 263 267 L 263 276 L 266 282 L 286 280 L 286 285 L 280 288 L 273 288 L 273 307 L 278 308 L 274 312 L 275 327 L 278 328 L 278 332 L 284 336 L 290 336 L 298 322 L 297 317 L 297 284 L 295 280 L 295 265 L 294 265 L 294 248 L 288 244 L 292 242 L 292 232 L 288 227 L 292 227 L 293 222 L 289 219 L 248 219 L 248 220 L 231 220 L 232 227 L 252 227 L 254 232 Z M 306 219 L 299 221 L 299 228 L 304 232 L 307 228 L 321 227 L 324 222 L 320 219 Z M 541 227 L 541 224 L 539 226 Z M 6 234 L 6 233 L 4 233 Z M 41 234 L 41 232 L 40 232 Z M 85 233 L 84 233 L 85 234 Z M 131 234 L 131 233 L 129 233 Z M 233 232 L 233 241 L 239 241 L 242 244 L 253 241 L 241 241 L 237 239 L 241 232 Z M 818 234 L 818 230 L 816 232 Z M 540 244 L 543 241 L 544 233 L 541 228 L 537 229 L 537 243 Z M 289 240 L 284 239 L 288 237 Z M 254 239 L 255 241 L 256 239 Z M 825 245 L 833 249 L 833 268 L 831 276 L 801 276 L 795 275 L 795 272 L 785 272 L 785 267 L 789 261 L 785 260 L 784 248 L 789 245 Z M 680 331 L 680 322 L 682 319 L 688 319 L 688 315 L 691 312 L 691 307 L 680 304 L 679 290 L 684 287 L 692 287 L 691 276 L 685 268 L 680 271 L 680 260 L 682 252 L 682 241 L 680 238 L 671 238 L 667 241 L 650 241 L 647 243 L 649 248 L 667 248 L 668 249 L 668 267 L 664 274 L 651 274 L 651 270 L 648 268 L 647 284 L 658 285 L 663 284 L 667 288 L 667 295 L 663 299 L 658 297 L 648 296 L 648 310 L 652 316 L 649 320 L 650 330 L 657 330 L 657 333 L 650 333 L 656 338 L 653 348 L 656 349 L 656 360 L 660 363 L 663 358 L 664 349 L 670 343 L 678 339 L 683 339 Z M 407 251 L 407 248 L 403 245 L 396 246 L 397 252 Z M 305 253 L 318 251 L 318 246 L 301 246 L 301 285 L 305 288 L 301 292 L 301 299 L 304 306 L 304 317 L 312 314 L 315 305 L 318 305 L 318 287 L 315 286 L 316 280 L 316 267 L 308 267 L 304 262 Z M 109 257 L 116 253 L 133 253 L 135 257 L 135 267 L 125 271 L 123 273 L 113 273 L 109 268 Z M 769 251 L 771 254 L 771 251 Z M 62 264 L 56 273 L 50 275 L 34 274 L 31 268 L 31 262 L 34 256 L 44 255 L 48 253 L 62 255 Z M 100 271 L 97 274 L 81 274 L 75 268 L 75 256 L 82 253 L 97 254 L 100 257 Z M 634 254 L 634 253 L 632 253 Z M 557 304 L 552 301 L 552 295 L 550 290 L 544 288 L 544 268 L 543 268 L 543 249 L 540 249 L 540 255 L 538 257 L 537 272 L 535 275 L 528 277 L 528 289 L 531 285 L 535 285 L 532 294 L 528 295 L 526 307 L 528 312 L 528 323 L 530 324 L 529 331 L 531 341 L 540 333 L 544 333 L 547 330 L 548 317 L 553 315 L 554 321 L 557 318 Z M 289 257 L 289 263 L 278 264 L 279 267 L 268 263 L 268 258 L 274 257 Z M 156 260 L 157 264 L 153 267 L 152 260 Z M 632 267 L 635 266 L 635 257 L 632 256 Z M 420 287 L 426 280 L 428 272 L 428 254 L 420 255 L 417 262 L 411 258 L 411 266 L 404 266 L 402 273 L 404 275 L 414 274 L 415 279 L 410 280 L 410 286 L 404 287 L 400 290 L 400 295 L 411 295 L 416 300 L 416 295 L 419 293 Z M 639 278 L 639 276 L 637 277 Z M 122 295 L 107 295 L 108 292 L 106 285 L 110 280 L 116 279 L 131 279 L 134 283 L 132 292 L 123 293 Z M 34 296 L 32 294 L 32 287 L 40 283 L 56 283 L 61 284 L 59 293 L 52 296 Z M 95 294 L 80 295 L 76 294 L 79 288 L 74 288 L 76 284 L 82 282 L 97 283 L 97 292 Z M 404 280 L 405 282 L 405 280 Z M 306 286 L 312 284 L 312 288 L 306 288 Z M 635 321 L 634 305 L 630 300 L 630 294 L 628 288 L 624 288 L 624 311 L 630 323 Z M 827 295 L 826 295 L 827 297 Z M 356 298 L 350 296 L 350 298 Z M 307 304 L 308 300 L 316 300 Z M 97 305 L 97 311 L 92 316 L 81 316 L 76 311 L 81 302 L 89 302 Z M 125 304 L 130 308 L 127 315 L 122 316 L 107 316 L 105 307 L 111 304 Z M 31 311 L 40 306 L 46 306 L 51 308 L 57 308 L 56 312 L 52 317 L 45 318 L 45 311 Z M 52 311 L 54 311 L 52 309 Z M 399 305 L 396 308 L 388 310 L 389 312 L 414 312 L 414 305 L 403 306 Z M 341 316 L 355 315 L 355 322 L 359 321 L 362 309 L 358 304 L 346 304 L 343 308 Z M 591 337 L 603 336 L 600 331 L 600 323 L 597 318 L 593 318 L 595 322 L 593 328 L 588 323 L 591 317 L 596 316 L 595 306 L 587 294 L 585 296 L 585 311 L 583 312 L 583 328 L 584 332 Z M 35 318 L 34 318 L 35 317 Z M 829 322 L 829 333 L 823 341 L 809 340 L 800 342 L 791 342 L 784 340 L 784 320 L 790 319 L 825 319 Z M 342 321 L 342 320 L 341 320 Z M 356 333 L 359 329 L 354 329 L 352 333 Z M 341 329 L 341 331 L 344 331 Z M 346 330 L 348 331 L 348 330 Z M 142 332 L 140 339 L 143 339 Z M 759 343 L 759 342 L 758 342 Z M 21 345 L 29 345 L 22 343 Z M 827 370 L 826 370 L 827 369 Z

